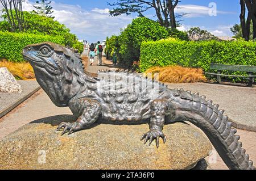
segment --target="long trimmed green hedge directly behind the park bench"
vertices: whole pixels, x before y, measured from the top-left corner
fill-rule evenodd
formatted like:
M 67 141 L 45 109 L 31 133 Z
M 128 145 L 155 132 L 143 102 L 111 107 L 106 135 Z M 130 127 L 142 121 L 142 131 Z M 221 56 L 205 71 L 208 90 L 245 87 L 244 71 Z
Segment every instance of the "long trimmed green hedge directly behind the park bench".
M 189 66 L 209 71 L 210 63 L 256 65 L 256 43 L 166 39 L 143 42 L 141 45 L 141 71 L 146 71 L 151 66 L 168 65 Z M 240 72 L 233 74 L 244 75 Z

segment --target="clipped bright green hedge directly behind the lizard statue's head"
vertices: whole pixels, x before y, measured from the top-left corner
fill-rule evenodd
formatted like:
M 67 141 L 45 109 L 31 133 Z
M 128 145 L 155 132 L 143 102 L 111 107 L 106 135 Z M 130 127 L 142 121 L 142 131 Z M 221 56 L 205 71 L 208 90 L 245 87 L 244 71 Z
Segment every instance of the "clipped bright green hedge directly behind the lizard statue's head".
M 51 41 L 64 45 L 62 36 L 34 35 L 29 33 L 11 33 L 0 31 L 0 60 L 5 58 L 13 62 L 24 61 L 22 49 L 29 44 Z

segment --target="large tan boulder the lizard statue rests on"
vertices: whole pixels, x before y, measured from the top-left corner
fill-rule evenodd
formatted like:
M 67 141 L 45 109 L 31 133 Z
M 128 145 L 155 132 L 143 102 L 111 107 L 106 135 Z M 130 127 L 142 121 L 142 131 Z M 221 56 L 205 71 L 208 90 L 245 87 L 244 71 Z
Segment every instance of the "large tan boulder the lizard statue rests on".
M 62 115 L 34 121 L 2 138 L 0 169 L 192 169 L 212 150 L 208 139 L 185 123 L 164 127 L 167 142 L 144 145 L 148 125 L 96 124 L 61 136 Z M 17 120 L 18 121 L 18 120 Z

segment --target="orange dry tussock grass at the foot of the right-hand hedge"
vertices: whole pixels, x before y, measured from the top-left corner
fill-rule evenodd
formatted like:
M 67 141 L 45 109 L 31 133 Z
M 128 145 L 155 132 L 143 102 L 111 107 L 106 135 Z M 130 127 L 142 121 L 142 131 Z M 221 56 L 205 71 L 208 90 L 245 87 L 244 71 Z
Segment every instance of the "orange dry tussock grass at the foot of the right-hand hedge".
M 155 73 L 159 73 L 159 81 L 164 83 L 195 83 L 206 82 L 202 69 L 184 68 L 182 66 L 155 66 L 148 69 L 144 75 L 152 73 L 152 78 L 155 78 Z

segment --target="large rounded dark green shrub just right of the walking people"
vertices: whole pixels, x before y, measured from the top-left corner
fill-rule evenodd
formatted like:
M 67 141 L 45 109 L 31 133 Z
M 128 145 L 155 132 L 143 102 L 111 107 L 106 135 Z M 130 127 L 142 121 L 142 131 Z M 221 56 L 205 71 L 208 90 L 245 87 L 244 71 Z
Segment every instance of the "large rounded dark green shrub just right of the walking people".
M 139 61 L 143 41 L 156 41 L 168 36 L 166 28 L 160 26 L 158 22 L 148 18 L 134 19 L 118 36 L 116 53 L 119 65 L 130 69 L 134 61 Z M 115 43 L 114 41 L 113 44 Z

